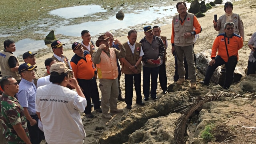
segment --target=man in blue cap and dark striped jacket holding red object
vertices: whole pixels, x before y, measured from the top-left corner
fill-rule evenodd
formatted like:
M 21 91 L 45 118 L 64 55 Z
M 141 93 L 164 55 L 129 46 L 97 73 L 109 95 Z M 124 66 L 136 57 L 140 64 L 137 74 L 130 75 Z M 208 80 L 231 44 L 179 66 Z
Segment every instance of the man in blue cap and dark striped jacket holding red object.
M 156 97 L 157 77 L 159 66 L 163 63 L 164 58 L 164 43 L 158 36 L 153 35 L 153 28 L 145 26 L 144 38 L 140 40 L 144 56 L 142 56 L 143 68 L 143 94 L 144 100 L 147 101 L 149 94 L 153 100 Z M 150 75 L 151 75 L 151 90 L 150 88 Z

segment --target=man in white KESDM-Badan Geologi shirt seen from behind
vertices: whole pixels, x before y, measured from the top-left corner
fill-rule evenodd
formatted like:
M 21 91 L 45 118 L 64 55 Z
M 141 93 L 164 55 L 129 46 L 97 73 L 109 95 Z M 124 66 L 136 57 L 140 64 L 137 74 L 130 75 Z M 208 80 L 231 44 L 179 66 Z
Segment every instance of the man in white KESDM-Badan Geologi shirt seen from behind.
M 52 84 L 37 89 L 36 114 L 49 144 L 83 144 L 85 139 L 79 111 L 84 111 L 86 99 L 70 71 L 63 62 L 56 62 L 50 68 Z M 67 84 L 74 86 L 76 92 L 66 88 Z

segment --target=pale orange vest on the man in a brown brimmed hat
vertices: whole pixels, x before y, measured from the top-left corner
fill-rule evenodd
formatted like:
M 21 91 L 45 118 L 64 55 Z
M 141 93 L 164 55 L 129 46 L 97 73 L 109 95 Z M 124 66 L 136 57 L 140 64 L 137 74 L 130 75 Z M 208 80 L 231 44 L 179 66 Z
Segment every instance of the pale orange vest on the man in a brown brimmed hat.
M 100 63 L 96 64 L 99 79 L 116 79 L 118 77 L 118 68 L 116 63 L 116 53 L 114 48 L 109 48 L 110 57 L 106 52 L 101 52 Z

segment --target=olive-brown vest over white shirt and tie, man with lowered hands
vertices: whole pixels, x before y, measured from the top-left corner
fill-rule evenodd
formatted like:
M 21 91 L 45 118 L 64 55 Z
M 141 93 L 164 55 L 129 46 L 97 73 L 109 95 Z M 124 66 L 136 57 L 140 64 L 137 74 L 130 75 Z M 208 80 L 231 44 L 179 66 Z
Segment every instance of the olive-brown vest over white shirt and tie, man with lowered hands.
M 124 48 L 126 49 L 126 57 L 125 57 L 125 59 L 132 66 L 134 66 L 136 64 L 136 62 L 138 61 L 138 59 L 140 58 L 141 44 L 138 43 L 138 42 L 135 42 L 135 48 L 134 48 L 134 53 L 133 54 L 132 54 L 132 50 L 131 50 L 128 42 L 124 43 Z M 137 66 L 137 70 L 138 70 L 139 73 L 141 73 L 141 62 Z M 122 64 L 122 72 L 124 74 L 134 74 L 134 72 L 132 72 L 130 70 L 130 68 L 127 65 L 125 65 L 125 64 Z

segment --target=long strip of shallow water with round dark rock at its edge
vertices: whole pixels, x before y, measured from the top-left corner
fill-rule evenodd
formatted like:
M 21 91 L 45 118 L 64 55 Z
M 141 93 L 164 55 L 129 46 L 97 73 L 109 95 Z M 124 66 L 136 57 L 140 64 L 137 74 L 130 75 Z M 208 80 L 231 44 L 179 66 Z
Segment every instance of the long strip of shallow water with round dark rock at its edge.
M 89 30 L 92 36 L 104 33 L 108 30 L 116 30 L 121 28 L 128 28 L 145 22 L 152 22 L 157 18 L 165 18 L 166 16 L 173 16 L 177 13 L 175 6 L 152 7 L 148 10 L 136 10 L 134 13 L 125 14 L 124 20 L 116 19 L 116 16 L 109 17 L 108 20 L 101 20 L 97 22 L 84 22 L 78 25 L 62 26 L 56 28 L 55 34 L 64 34 L 67 36 L 80 36 L 80 32 L 84 29 Z M 171 23 L 171 20 L 170 20 Z M 143 25 L 141 26 L 143 28 Z

